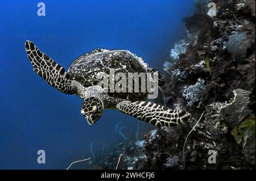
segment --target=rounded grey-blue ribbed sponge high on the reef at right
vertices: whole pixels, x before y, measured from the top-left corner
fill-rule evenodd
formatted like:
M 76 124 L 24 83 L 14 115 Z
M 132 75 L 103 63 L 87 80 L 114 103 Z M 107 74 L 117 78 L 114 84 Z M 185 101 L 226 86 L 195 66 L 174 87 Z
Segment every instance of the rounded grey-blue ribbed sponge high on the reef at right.
M 226 48 L 233 60 L 241 62 L 245 59 L 247 50 L 251 48 L 252 44 L 251 37 L 247 36 L 245 32 L 241 32 L 230 36 Z

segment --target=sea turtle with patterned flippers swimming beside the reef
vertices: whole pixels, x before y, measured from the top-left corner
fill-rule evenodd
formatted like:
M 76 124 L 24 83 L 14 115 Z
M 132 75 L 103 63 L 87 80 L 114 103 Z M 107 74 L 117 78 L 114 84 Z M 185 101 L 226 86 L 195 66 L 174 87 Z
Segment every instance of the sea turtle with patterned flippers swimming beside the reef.
M 156 127 L 179 125 L 190 116 L 186 111 L 171 110 L 145 101 L 148 92 L 109 92 L 98 85 L 97 75 L 109 74 L 110 68 L 119 73 L 155 71 L 147 68 L 142 58 L 128 50 L 95 49 L 77 58 L 65 71 L 31 41 L 26 41 L 25 48 L 34 71 L 49 85 L 65 94 L 76 94 L 84 100 L 81 113 L 89 125 L 100 119 L 104 108 L 117 109 Z M 158 85 L 163 85 L 160 75 Z

